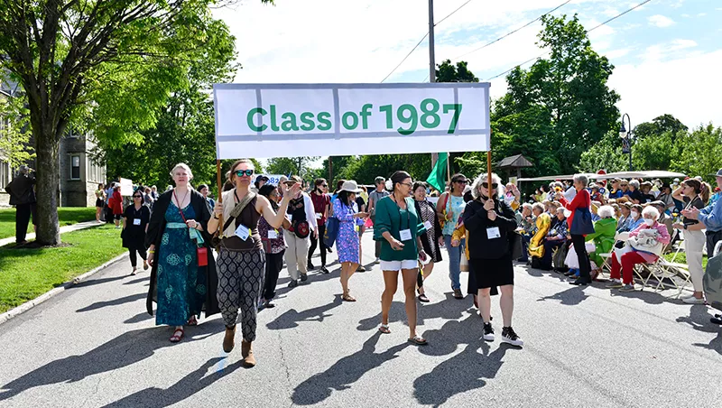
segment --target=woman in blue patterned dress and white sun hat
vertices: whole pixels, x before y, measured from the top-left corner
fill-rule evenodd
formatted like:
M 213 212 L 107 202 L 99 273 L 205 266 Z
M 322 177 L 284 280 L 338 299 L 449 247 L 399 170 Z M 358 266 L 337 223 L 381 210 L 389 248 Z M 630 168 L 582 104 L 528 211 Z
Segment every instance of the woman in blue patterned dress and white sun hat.
M 348 291 L 348 280 L 356 272 L 360 259 L 358 255 L 359 228 L 364 225 L 364 218 L 368 217 L 366 212 L 358 212 L 356 205 L 356 194 L 361 191 L 356 181 L 344 181 L 338 196 L 333 200 L 333 217 L 338 218 L 338 237 L 336 245 L 338 251 L 338 262 L 341 264 L 341 289 L 344 301 L 356 301 Z

